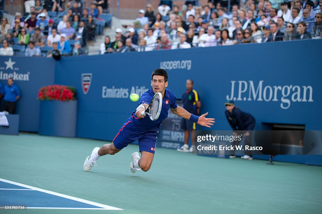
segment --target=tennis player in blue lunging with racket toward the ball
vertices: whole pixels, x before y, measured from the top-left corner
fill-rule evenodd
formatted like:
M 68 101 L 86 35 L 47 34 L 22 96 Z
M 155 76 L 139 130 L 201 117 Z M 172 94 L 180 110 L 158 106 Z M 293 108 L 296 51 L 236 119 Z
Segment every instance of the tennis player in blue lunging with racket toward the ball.
M 168 86 L 168 73 L 164 69 L 156 69 L 152 73 L 151 80 L 152 88 L 142 94 L 139 106 L 136 111 L 123 124 L 118 134 L 113 139 L 111 144 L 105 144 L 101 148 L 96 147 L 93 149 L 90 156 L 84 162 L 84 170 L 89 171 L 100 156 L 114 155 L 127 147 L 128 144 L 138 140 L 139 151 L 131 155 L 132 161 L 130 163 L 130 170 L 132 173 L 138 170 L 148 171 L 151 167 L 154 153 L 156 150 L 157 133 L 160 125 L 164 119 L 168 117 L 168 111 L 171 109 L 172 113 L 197 123 L 202 126 L 210 128 L 215 122 L 214 118 L 206 118 L 208 113 L 198 117 L 187 112 L 184 108 L 176 105 L 176 97 L 171 90 L 166 89 Z M 152 121 L 148 116 L 141 115 L 141 112 L 147 110 L 153 96 L 160 92 L 162 94 L 162 109 L 156 121 Z

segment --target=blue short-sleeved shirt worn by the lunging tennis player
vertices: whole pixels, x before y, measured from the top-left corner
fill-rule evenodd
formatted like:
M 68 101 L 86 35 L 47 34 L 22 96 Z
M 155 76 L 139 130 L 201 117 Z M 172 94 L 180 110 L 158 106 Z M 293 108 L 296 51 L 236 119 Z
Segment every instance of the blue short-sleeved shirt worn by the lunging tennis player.
M 156 121 L 152 121 L 148 115 L 144 118 L 138 119 L 135 115 L 136 111 L 132 112 L 132 116 L 128 119 L 128 121 L 133 120 L 133 123 L 139 130 L 153 132 L 158 131 L 160 129 L 162 121 L 168 117 L 169 109 L 177 108 L 175 95 L 171 90 L 165 90 L 165 96 L 162 98 L 162 109 L 160 112 L 160 116 Z M 150 105 L 153 96 L 154 93 L 152 88 L 150 90 L 147 90 L 144 94 L 142 94 L 138 106 L 142 103 Z

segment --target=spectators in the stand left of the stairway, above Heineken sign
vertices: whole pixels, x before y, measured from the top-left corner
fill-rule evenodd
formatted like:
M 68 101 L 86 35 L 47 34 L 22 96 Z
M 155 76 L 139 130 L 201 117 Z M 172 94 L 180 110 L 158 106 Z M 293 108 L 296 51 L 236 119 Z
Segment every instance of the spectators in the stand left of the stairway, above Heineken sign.
M 12 23 L 1 18 L 2 56 L 50 57 L 56 45 L 61 55 L 87 54 L 87 41 L 95 40 L 97 34 L 95 19 L 107 7 L 107 0 L 93 1 L 89 8 L 70 0 L 65 11 L 64 1 L 26 0 L 24 6 L 24 16 L 15 13 Z

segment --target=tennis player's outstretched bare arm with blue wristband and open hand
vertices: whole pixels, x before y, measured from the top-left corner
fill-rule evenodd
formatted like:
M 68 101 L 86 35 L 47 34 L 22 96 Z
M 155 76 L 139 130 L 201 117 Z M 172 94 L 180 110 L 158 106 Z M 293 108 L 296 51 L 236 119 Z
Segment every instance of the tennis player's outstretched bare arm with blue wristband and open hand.
M 199 125 L 206 126 L 208 128 L 210 128 L 210 126 L 213 125 L 213 123 L 215 122 L 214 118 L 206 118 L 205 117 L 208 115 L 208 112 L 206 114 L 203 114 L 202 116 L 198 117 L 198 116 L 190 114 L 183 107 L 180 107 L 180 106 L 178 106 L 177 108 L 171 108 L 171 112 L 179 117 L 193 121 L 194 123 L 198 123 Z

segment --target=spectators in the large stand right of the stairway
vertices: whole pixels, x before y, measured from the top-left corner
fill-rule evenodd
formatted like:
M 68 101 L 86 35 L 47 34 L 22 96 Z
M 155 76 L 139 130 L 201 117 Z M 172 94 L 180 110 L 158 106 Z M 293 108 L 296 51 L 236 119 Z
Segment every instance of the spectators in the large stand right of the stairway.
M 322 2 L 231 2 L 230 13 L 227 1 L 218 0 L 186 1 L 181 10 L 172 1 L 156 11 L 147 4 L 133 23 L 116 29 L 115 41 L 106 37 L 100 54 L 322 38 Z

